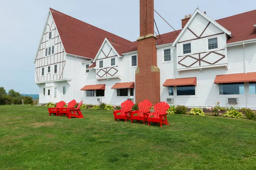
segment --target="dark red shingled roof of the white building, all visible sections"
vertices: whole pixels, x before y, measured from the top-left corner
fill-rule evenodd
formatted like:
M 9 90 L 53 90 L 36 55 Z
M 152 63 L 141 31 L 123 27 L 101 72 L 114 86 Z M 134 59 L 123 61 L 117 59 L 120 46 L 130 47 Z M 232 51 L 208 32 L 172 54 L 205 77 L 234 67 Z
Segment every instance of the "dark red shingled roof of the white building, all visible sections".
M 52 8 L 50 10 L 65 51 L 68 54 L 94 59 L 105 38 L 111 42 L 119 55 L 137 51 L 137 41 L 131 42 Z M 226 17 L 216 20 L 216 22 L 233 34 L 233 37 L 229 38 L 227 43 L 256 38 L 256 28 L 253 27 L 256 24 L 256 10 Z M 161 34 L 161 37 L 157 39 L 157 45 L 174 42 L 180 31 Z M 115 40 L 114 43 L 112 43 L 113 39 Z

